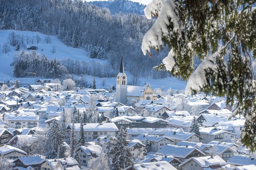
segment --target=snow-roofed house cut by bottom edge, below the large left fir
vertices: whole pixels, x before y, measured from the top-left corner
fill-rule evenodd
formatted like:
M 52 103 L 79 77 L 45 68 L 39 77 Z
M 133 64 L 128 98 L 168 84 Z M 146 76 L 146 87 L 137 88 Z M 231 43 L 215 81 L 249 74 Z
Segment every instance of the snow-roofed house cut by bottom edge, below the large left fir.
M 80 170 L 79 164 L 74 158 L 46 159 L 41 164 L 42 170 L 55 170 L 57 167 Z

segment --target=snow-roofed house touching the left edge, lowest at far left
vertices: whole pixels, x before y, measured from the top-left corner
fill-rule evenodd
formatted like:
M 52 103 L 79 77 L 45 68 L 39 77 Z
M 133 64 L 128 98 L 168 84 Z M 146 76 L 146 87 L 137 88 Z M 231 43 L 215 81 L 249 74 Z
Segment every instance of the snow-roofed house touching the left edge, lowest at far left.
M 15 161 L 18 158 L 28 155 L 28 153 L 24 152 L 21 149 L 15 148 L 13 146 L 6 145 L 6 146 L 0 147 L 0 155 Z

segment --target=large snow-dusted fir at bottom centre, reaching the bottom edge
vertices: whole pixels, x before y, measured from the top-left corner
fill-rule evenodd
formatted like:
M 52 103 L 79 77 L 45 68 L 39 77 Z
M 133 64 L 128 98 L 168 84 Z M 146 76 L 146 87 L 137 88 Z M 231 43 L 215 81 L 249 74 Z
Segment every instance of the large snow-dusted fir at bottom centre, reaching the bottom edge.
M 129 141 L 127 141 L 126 133 L 123 130 L 123 127 L 120 128 L 117 134 L 117 141 L 113 147 L 112 153 L 112 166 L 115 169 L 125 168 L 130 165 L 131 152 L 127 147 Z

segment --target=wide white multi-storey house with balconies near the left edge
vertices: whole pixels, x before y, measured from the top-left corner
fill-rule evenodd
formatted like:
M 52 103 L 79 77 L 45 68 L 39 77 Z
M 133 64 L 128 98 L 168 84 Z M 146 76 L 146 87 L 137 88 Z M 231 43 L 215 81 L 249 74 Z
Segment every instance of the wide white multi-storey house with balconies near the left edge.
M 33 128 L 38 127 L 39 116 L 34 115 L 8 115 L 4 117 L 5 128 Z

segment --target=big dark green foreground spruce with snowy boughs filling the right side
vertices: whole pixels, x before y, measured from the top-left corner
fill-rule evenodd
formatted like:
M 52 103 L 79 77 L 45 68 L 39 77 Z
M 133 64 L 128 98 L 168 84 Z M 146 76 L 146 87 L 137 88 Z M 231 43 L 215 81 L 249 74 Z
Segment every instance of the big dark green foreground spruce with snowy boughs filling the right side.
M 225 96 L 236 115 L 246 118 L 241 142 L 256 150 L 256 82 L 250 63 L 256 58 L 255 1 L 152 2 L 144 9 L 154 25 L 144 35 L 142 51 L 168 48 L 158 70 L 187 80 L 186 95 Z M 164 45 L 163 45 L 164 44 Z M 228 63 L 224 56 L 229 55 Z M 202 61 L 194 70 L 194 57 Z

